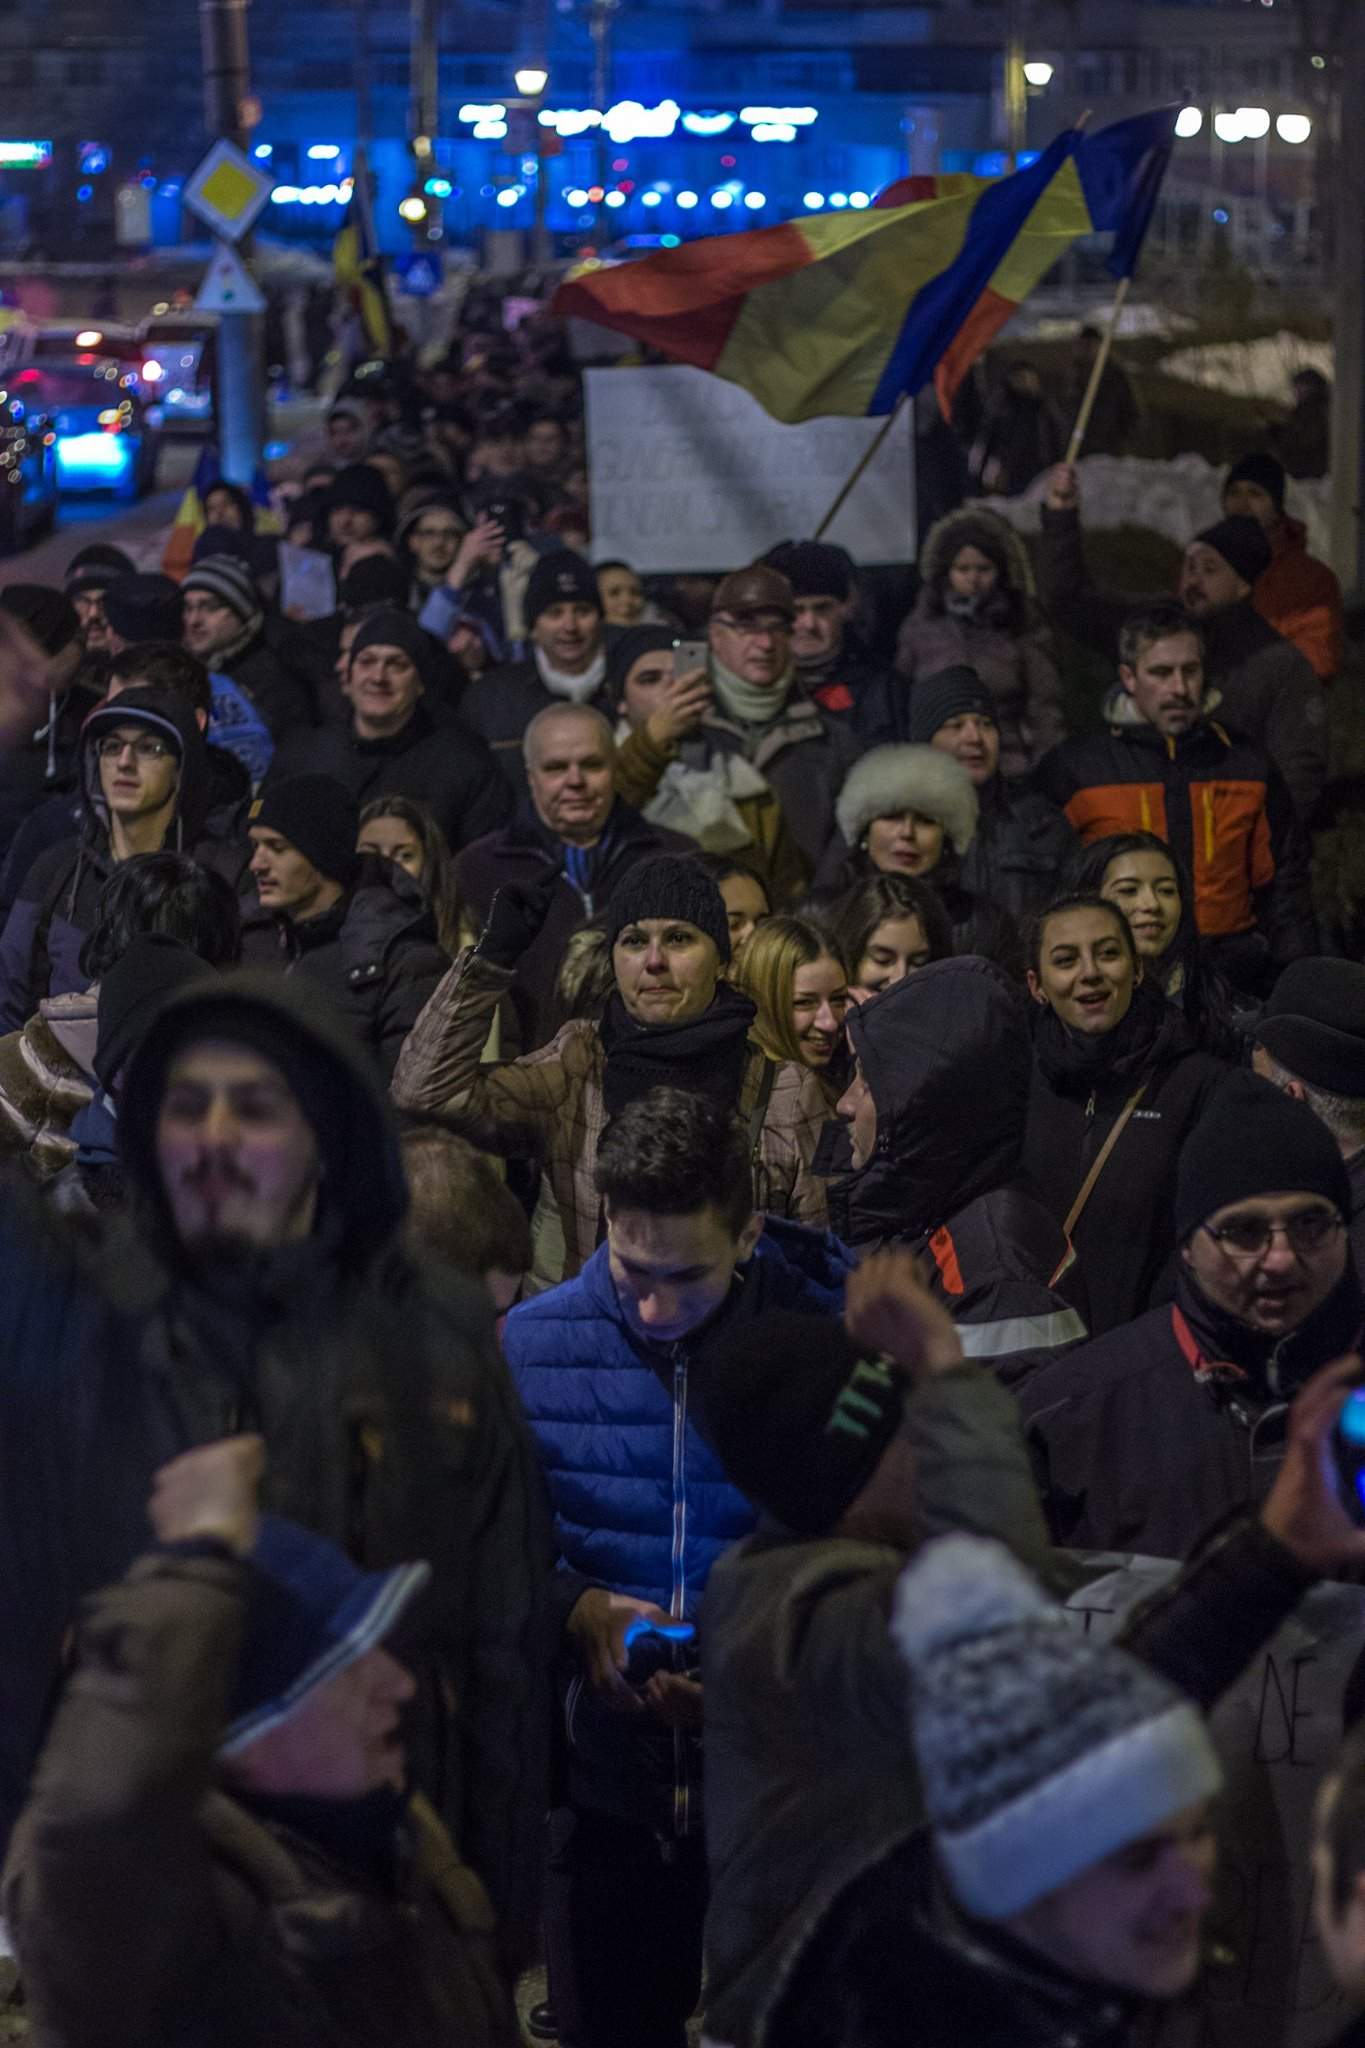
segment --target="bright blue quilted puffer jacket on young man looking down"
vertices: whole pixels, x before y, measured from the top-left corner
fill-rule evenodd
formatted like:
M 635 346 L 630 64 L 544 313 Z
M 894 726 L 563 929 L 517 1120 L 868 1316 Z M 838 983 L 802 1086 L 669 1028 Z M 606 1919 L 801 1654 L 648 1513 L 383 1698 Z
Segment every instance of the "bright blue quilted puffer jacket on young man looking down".
M 546 1470 L 561 1571 L 694 1614 L 710 1567 L 755 1520 L 688 1419 L 696 1348 L 765 1309 L 837 1315 L 851 1266 L 837 1237 L 769 1217 L 720 1315 L 696 1346 L 653 1348 L 653 1364 L 616 1300 L 606 1245 L 512 1311 L 503 1352 Z

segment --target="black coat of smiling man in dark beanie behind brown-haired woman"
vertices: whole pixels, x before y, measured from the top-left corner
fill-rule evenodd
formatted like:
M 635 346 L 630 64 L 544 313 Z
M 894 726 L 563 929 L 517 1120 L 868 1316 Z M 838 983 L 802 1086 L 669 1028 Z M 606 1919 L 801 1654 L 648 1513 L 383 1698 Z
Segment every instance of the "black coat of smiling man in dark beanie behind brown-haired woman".
M 413 797 L 432 811 L 456 854 L 512 811 L 479 735 L 463 721 L 434 719 L 426 705 L 385 739 L 358 739 L 342 725 L 295 733 L 270 762 L 266 784 L 291 774 L 332 774 L 360 805 L 372 797 Z

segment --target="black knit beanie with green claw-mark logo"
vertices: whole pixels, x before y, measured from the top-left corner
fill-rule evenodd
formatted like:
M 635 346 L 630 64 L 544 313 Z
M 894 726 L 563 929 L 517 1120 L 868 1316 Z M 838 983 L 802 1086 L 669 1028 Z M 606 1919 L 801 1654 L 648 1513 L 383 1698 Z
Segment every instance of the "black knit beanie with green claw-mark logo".
M 825 1536 L 900 1425 L 905 1382 L 825 1315 L 774 1309 L 722 1337 L 696 1421 L 726 1479 L 798 1536 Z

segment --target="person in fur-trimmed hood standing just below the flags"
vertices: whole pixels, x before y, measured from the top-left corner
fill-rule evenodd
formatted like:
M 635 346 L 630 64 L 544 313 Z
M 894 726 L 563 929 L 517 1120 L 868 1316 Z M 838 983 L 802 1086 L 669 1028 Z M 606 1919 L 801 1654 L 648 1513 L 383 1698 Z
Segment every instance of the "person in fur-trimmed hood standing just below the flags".
M 896 674 L 970 668 L 995 700 L 1001 774 L 1027 774 L 1066 737 L 1052 635 L 1033 600 L 1029 555 L 995 512 L 950 512 L 919 555 L 921 590 L 896 639 Z

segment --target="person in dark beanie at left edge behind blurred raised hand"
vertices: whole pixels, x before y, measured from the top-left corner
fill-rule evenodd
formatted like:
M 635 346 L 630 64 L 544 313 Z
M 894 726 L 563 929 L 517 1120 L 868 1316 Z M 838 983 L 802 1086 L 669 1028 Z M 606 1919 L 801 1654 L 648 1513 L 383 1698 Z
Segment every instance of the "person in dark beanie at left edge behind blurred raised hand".
M 80 727 L 98 696 L 78 680 L 84 647 L 80 618 L 70 598 L 49 590 L 47 584 L 6 584 L 0 600 L 0 643 L 6 649 L 6 664 L 27 664 L 35 684 L 33 727 L 10 735 L 0 754 L 2 858 L 29 811 L 45 797 L 76 791 Z M 16 639 L 18 649 L 10 645 Z

